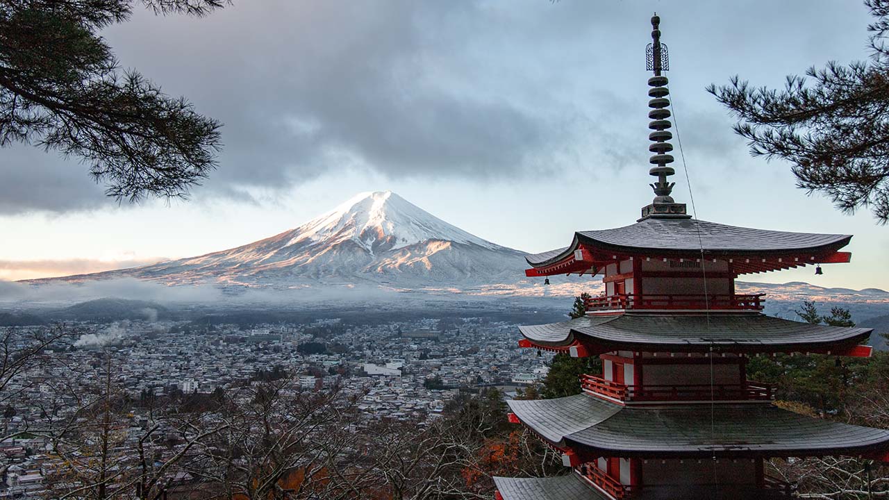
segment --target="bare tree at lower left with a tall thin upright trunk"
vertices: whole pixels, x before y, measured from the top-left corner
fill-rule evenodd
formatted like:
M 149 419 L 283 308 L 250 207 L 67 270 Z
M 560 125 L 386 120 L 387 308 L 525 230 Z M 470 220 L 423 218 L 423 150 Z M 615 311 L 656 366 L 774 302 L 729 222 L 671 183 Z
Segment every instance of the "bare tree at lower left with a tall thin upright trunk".
M 158 500 L 183 475 L 193 448 L 224 429 L 206 415 L 182 413 L 172 402 L 145 408 L 133 422 L 132 403 L 116 385 L 106 353 L 102 380 L 84 406 L 53 429 L 52 498 Z

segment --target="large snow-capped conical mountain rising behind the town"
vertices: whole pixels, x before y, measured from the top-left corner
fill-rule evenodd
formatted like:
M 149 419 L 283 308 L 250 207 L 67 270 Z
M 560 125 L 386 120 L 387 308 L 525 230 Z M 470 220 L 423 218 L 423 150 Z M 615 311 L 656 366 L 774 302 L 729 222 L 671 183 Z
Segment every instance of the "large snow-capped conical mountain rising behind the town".
M 478 238 L 391 191 L 361 193 L 271 238 L 197 257 L 66 278 L 134 277 L 169 285 L 387 284 L 447 288 L 512 283 L 524 253 Z

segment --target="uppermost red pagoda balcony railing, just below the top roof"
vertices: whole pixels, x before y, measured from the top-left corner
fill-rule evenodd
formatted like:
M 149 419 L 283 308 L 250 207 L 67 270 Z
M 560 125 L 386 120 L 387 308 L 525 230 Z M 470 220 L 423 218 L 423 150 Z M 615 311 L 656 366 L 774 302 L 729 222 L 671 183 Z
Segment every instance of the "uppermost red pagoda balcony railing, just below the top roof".
M 763 310 L 765 294 L 614 294 L 590 297 L 597 310 Z

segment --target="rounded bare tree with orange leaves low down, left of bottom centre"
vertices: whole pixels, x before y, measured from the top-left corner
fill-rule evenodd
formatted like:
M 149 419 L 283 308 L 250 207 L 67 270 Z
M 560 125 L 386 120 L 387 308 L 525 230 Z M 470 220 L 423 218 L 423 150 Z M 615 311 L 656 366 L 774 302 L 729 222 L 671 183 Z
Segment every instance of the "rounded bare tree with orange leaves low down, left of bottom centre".
M 331 489 L 329 467 L 348 453 L 353 403 L 337 389 L 302 391 L 291 380 L 231 391 L 216 416 L 224 429 L 198 447 L 189 472 L 208 498 L 315 498 Z

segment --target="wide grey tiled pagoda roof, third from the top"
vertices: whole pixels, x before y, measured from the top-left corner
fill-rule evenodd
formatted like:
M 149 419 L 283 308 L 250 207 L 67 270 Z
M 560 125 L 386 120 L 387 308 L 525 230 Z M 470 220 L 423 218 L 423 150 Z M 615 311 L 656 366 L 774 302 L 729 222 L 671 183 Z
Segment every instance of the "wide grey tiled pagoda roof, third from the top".
M 623 407 L 589 394 L 508 402 L 541 437 L 590 456 L 855 455 L 889 448 L 887 430 L 830 422 L 764 403 Z M 583 423 L 589 424 L 579 430 Z

